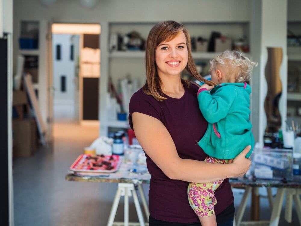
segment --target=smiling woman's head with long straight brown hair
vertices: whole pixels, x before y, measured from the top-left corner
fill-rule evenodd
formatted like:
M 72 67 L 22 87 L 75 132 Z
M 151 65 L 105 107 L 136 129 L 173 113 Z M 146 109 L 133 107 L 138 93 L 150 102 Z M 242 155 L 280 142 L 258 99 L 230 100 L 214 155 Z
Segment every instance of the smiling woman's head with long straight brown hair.
M 146 83 L 143 91 L 158 101 L 166 99 L 163 93 L 167 87 L 162 80 L 168 75 L 175 75 L 172 79 L 178 80 L 184 69 L 197 80 L 209 85 L 214 84 L 197 72 L 191 55 L 189 33 L 182 24 L 175 21 L 163 21 L 151 29 L 147 37 L 145 55 Z M 190 85 L 188 81 L 183 82 Z

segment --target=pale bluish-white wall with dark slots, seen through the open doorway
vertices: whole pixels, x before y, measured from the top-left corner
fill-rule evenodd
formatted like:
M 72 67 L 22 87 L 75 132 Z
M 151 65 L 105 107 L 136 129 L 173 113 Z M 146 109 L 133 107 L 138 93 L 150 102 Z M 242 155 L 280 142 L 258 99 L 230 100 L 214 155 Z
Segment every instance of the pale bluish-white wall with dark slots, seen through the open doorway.
M 76 99 L 77 88 L 75 67 L 79 49 L 79 35 L 53 34 L 52 57 L 53 57 L 53 110 L 54 120 L 77 119 Z M 73 44 L 74 59 L 70 60 L 70 46 Z M 56 46 L 61 45 L 61 60 L 56 59 Z M 66 76 L 66 92 L 61 91 L 61 76 Z

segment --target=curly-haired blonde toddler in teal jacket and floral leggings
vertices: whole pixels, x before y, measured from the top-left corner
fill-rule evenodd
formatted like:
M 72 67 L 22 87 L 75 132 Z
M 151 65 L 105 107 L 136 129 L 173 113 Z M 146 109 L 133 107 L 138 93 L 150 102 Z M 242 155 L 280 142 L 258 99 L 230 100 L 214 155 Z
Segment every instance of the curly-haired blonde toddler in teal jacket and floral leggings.
M 197 92 L 200 110 L 208 121 L 206 133 L 197 142 L 208 155 L 205 162 L 231 163 L 248 145 L 252 149 L 246 158 L 251 155 L 254 137 L 249 119 L 251 87 L 247 81 L 254 66 L 257 66 L 256 62 L 237 51 L 227 50 L 210 60 L 211 80 L 217 85 L 203 84 Z M 217 225 L 214 191 L 222 182 L 190 183 L 188 186 L 190 206 L 202 226 Z

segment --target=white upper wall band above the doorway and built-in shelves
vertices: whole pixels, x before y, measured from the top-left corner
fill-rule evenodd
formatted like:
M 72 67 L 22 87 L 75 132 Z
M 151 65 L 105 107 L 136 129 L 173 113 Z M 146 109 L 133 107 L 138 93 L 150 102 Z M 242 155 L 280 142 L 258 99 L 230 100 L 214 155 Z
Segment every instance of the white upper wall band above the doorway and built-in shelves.
M 94 9 L 83 8 L 79 1 L 75 0 L 58 0 L 48 7 L 40 5 L 38 0 L 15 0 L 14 3 L 16 19 L 54 18 L 54 22 L 250 19 L 249 0 L 101 0 Z

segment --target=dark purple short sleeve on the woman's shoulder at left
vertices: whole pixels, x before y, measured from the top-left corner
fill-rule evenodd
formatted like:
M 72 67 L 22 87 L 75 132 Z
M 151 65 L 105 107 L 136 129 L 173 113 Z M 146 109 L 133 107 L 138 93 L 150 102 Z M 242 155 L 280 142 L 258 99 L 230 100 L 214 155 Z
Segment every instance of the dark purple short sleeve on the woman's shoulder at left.
M 161 121 L 157 102 L 154 97 L 146 95 L 141 90 L 133 94 L 129 104 L 129 125 L 132 130 L 134 130 L 132 122 L 132 114 L 134 112 L 149 115 Z

